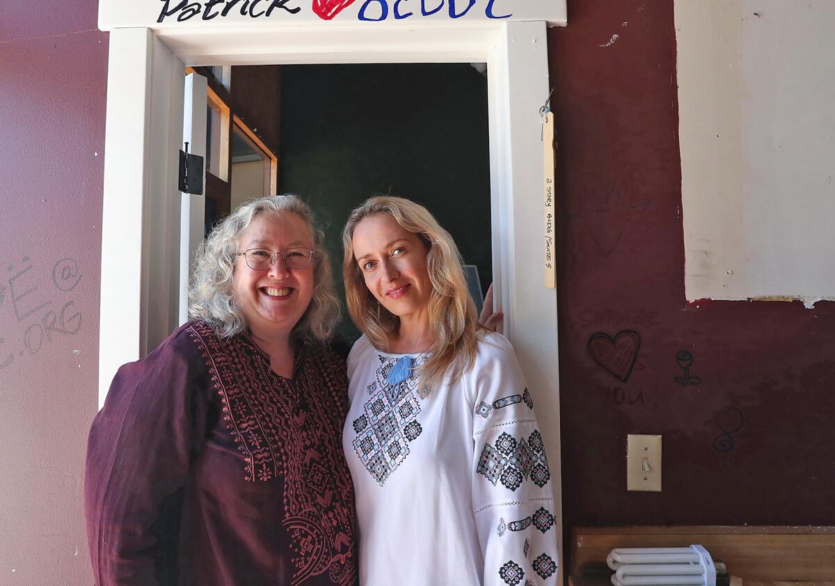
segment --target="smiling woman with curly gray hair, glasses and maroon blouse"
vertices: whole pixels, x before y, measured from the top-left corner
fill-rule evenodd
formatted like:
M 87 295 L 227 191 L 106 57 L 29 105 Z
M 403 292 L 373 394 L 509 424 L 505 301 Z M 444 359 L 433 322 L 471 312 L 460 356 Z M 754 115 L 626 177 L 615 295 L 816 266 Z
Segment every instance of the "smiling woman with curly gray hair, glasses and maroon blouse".
M 90 431 L 95 582 L 354 584 L 339 305 L 299 198 L 253 200 L 215 227 L 190 318 L 119 369 Z

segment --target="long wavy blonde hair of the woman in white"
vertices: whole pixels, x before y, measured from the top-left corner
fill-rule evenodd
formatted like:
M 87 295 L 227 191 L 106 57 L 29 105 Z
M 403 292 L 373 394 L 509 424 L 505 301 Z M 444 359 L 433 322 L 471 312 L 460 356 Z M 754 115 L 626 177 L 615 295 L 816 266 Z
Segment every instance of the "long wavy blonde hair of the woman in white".
M 421 366 L 417 388 L 433 388 L 457 381 L 475 361 L 478 340 L 486 331 L 478 324 L 475 303 L 469 296 L 461 255 L 453 237 L 423 207 L 399 197 L 377 196 L 366 200 L 348 216 L 342 231 L 345 259 L 342 276 L 348 312 L 371 343 L 387 350 L 400 328 L 400 318 L 387 311 L 368 290 L 357 261 L 354 260 L 353 235 L 357 225 L 370 215 L 388 214 L 404 230 L 417 234 L 427 245 L 426 264 L 432 293 L 429 297 L 429 327 L 433 346 Z

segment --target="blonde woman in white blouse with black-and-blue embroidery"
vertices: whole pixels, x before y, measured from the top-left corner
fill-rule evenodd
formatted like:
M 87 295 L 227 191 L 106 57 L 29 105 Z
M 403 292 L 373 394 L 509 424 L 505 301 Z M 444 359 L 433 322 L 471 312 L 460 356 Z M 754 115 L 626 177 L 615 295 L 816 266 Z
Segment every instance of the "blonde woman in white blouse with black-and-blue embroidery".
M 362 586 L 556 583 L 554 499 L 512 346 L 478 325 L 452 237 L 412 201 L 374 197 L 343 232 L 342 445 Z

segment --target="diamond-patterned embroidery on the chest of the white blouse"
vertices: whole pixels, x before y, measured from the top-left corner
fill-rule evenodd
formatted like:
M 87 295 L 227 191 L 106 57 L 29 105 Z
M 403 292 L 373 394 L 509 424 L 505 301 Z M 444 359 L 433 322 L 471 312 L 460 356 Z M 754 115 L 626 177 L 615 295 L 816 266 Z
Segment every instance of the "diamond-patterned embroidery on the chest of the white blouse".
M 357 433 L 353 441 L 357 456 L 382 487 L 408 456 L 409 443 L 423 432 L 417 422 L 420 402 L 417 401 L 417 377 L 414 376 L 423 361 L 417 359 L 405 380 L 391 384 L 387 380 L 388 374 L 399 359 L 377 357 L 380 366 L 374 373 L 374 381 L 366 387 L 371 397 L 362 406 L 362 415 L 352 422 L 352 427 Z

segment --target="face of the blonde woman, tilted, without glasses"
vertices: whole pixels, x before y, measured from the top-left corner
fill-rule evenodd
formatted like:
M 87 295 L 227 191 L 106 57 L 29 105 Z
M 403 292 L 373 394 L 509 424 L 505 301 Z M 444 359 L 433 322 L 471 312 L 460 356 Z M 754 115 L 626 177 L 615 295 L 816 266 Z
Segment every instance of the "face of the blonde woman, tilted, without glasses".
M 354 259 L 368 290 L 383 307 L 404 321 L 428 321 L 432 282 L 428 247 L 420 236 L 391 215 L 369 215 L 352 236 Z

